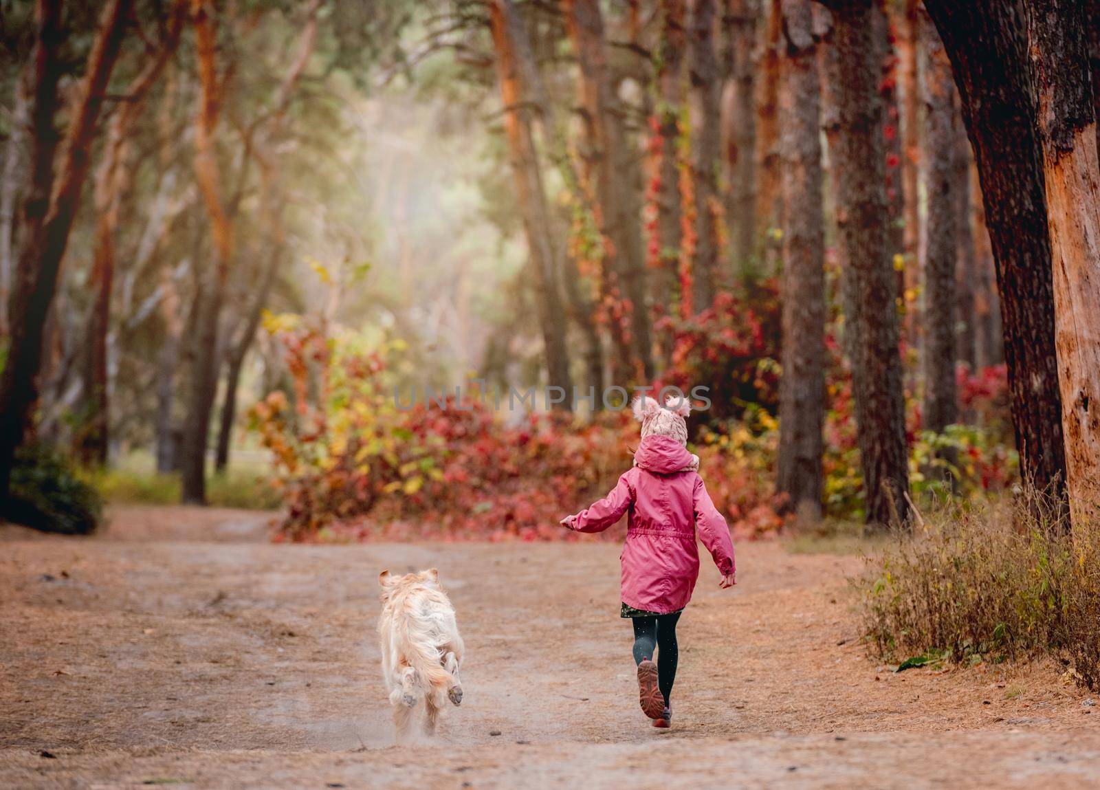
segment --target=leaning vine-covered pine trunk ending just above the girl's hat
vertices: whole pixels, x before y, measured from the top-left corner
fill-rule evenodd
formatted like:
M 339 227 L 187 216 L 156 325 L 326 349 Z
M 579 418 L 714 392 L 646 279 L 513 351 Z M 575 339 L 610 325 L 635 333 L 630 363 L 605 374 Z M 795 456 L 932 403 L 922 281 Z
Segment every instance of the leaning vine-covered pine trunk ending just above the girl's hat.
M 622 283 L 625 299 L 619 300 L 619 307 L 623 319 L 628 321 L 629 344 L 632 347 L 628 359 L 637 360 L 641 366 L 639 373 L 650 381 L 653 375 L 651 315 L 647 304 L 640 217 L 635 210 L 637 202 L 631 184 L 635 165 L 626 138 L 623 109 L 612 81 L 598 2 L 566 0 L 565 26 L 580 65 L 587 156 L 600 207 L 597 223 L 607 242 L 603 266 L 616 281 L 608 290 L 614 292 Z M 613 317 L 612 320 L 619 319 Z M 625 375 L 625 372 L 619 375 Z

